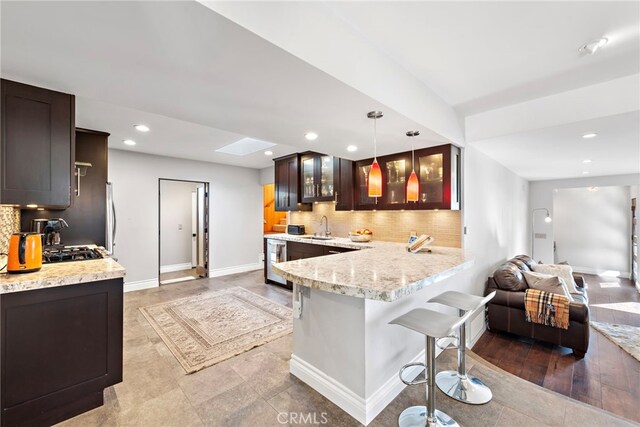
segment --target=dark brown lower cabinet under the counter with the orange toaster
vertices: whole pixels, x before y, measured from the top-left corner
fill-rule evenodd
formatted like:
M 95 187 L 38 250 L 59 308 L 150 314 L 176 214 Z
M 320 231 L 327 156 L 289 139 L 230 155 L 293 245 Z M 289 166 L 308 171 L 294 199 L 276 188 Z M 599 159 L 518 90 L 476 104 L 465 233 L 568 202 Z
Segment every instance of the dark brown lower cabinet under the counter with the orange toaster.
M 0 295 L 0 425 L 46 426 L 122 382 L 123 280 Z

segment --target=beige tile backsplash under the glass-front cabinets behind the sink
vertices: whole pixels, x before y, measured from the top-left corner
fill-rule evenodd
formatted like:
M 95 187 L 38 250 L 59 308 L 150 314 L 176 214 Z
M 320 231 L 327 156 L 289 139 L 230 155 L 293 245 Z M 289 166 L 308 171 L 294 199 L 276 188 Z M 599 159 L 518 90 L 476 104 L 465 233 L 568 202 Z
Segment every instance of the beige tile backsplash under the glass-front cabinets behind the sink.
M 313 212 L 291 212 L 290 224 L 303 224 L 306 232 L 324 231 L 320 218 L 329 219 L 329 230 L 335 237 L 346 237 L 349 231 L 368 228 L 375 240 L 406 242 L 412 231 L 428 234 L 434 245 L 462 246 L 462 212 L 460 211 L 354 211 L 336 212 L 333 203 L 313 205 Z

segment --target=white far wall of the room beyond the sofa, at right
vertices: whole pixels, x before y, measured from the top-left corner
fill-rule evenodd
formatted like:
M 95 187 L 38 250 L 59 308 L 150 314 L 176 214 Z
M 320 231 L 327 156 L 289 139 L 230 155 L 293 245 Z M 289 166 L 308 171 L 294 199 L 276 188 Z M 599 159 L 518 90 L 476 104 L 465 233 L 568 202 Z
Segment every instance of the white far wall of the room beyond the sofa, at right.
M 628 186 L 554 192 L 556 260 L 575 271 L 629 275 L 631 199 Z

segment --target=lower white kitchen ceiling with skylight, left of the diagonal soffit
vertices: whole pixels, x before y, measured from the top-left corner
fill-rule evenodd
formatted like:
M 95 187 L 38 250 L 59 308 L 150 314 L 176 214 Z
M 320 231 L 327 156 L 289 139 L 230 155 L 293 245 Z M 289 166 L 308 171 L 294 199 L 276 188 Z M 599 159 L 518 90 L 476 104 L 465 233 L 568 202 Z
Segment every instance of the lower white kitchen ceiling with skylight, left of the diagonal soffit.
M 216 148 L 249 136 L 275 155 L 315 150 L 373 155 L 366 113 L 382 109 L 378 153 L 446 143 L 424 126 L 195 2 L 2 2 L 2 75 L 78 96 L 78 126 L 113 134 L 114 148 L 266 167 L 256 153 Z M 143 113 L 147 112 L 147 113 Z M 148 114 L 152 132 L 126 147 Z M 152 123 L 153 122 L 153 123 Z M 156 124 L 157 123 L 157 124 Z M 208 128 L 208 129 L 207 129 Z M 320 137 L 309 143 L 308 131 Z M 358 152 L 346 151 L 357 145 Z

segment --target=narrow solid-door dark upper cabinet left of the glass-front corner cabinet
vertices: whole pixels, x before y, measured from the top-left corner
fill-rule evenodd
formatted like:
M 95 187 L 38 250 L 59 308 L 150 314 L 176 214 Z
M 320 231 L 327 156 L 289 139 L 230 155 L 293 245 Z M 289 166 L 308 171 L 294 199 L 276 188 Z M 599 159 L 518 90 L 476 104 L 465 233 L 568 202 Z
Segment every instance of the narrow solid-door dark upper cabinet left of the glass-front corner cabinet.
M 274 159 L 275 210 L 310 211 L 311 204 L 302 203 L 300 197 L 300 154 Z

